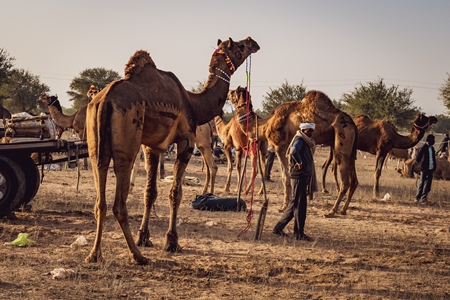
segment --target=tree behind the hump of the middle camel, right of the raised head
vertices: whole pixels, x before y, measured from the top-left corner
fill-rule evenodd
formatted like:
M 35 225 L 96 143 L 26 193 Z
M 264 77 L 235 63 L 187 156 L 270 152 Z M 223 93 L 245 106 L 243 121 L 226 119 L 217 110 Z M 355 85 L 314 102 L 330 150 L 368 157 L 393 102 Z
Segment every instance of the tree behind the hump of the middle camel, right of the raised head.
M 263 96 L 262 112 L 265 115 L 269 115 L 275 108 L 285 102 L 302 100 L 306 95 L 306 86 L 303 86 L 303 82 L 299 85 L 290 85 L 285 81 L 281 87 L 272 89 Z

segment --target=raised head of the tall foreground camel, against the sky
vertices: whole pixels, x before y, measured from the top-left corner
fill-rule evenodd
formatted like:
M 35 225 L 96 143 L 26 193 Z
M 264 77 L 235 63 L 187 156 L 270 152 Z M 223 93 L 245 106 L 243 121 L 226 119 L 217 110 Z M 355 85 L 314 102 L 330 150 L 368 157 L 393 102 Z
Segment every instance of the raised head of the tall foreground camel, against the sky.
M 244 40 L 235 42 L 231 38 L 226 41 L 218 40 L 217 49 L 215 55 L 211 58 L 210 68 L 216 66 L 215 61 L 219 59 L 219 56 L 225 58 L 225 62 L 230 75 L 236 71 L 236 69 L 242 65 L 245 59 L 252 53 L 256 53 L 259 50 L 259 45 L 251 37 L 247 37 Z

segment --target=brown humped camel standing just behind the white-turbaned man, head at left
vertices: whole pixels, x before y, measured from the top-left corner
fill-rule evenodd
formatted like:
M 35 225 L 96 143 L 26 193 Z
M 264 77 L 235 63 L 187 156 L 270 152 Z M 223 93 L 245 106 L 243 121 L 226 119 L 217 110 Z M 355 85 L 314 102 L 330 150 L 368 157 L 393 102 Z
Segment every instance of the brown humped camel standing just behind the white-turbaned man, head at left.
M 250 101 L 249 96 L 247 90 L 241 87 L 228 93 L 229 99 L 236 108 L 236 115 L 240 118 L 249 116 L 247 119 L 248 125 L 245 122 L 239 124 L 242 130 L 248 126 L 249 136 L 253 138 L 256 137 L 256 119 L 254 113 L 247 109 L 247 99 Z M 338 198 L 332 209 L 324 216 L 333 217 L 337 213 L 339 204 L 348 191 L 347 200 L 339 211 L 340 214 L 345 215 L 353 193 L 358 186 L 355 169 L 358 131 L 352 118 L 337 109 L 328 96 L 320 91 L 308 92 L 301 101 L 283 103 L 272 114 L 258 121 L 258 138 L 262 141 L 267 140 L 274 146 L 280 161 L 284 185 L 284 202 L 280 211 L 286 208 L 292 190 L 286 151 L 295 133 L 299 130 L 300 123 L 307 121 L 316 124 L 316 130 L 312 135 L 316 144 L 333 145 L 332 148 L 336 153 L 336 164 L 341 177 Z

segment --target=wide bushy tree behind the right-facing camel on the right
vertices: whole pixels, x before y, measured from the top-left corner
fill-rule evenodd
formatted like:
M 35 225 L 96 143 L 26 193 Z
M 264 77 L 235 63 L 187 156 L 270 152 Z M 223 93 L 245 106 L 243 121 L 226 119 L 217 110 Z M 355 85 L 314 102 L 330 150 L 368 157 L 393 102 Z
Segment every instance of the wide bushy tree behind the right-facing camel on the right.
M 399 90 L 398 86 L 387 87 L 383 79 L 356 87 L 353 92 L 342 95 L 342 110 L 352 117 L 366 114 L 372 119 L 390 121 L 400 128 L 408 128 L 419 113 L 413 106 L 412 89 Z

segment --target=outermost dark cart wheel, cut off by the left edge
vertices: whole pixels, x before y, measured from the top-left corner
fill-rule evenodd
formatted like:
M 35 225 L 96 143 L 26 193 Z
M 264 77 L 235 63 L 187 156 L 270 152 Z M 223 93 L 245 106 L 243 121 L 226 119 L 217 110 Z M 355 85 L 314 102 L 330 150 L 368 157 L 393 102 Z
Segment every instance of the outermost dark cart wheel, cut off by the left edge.
M 25 174 L 17 163 L 0 155 L 0 217 L 18 208 L 25 194 Z

